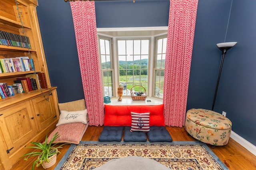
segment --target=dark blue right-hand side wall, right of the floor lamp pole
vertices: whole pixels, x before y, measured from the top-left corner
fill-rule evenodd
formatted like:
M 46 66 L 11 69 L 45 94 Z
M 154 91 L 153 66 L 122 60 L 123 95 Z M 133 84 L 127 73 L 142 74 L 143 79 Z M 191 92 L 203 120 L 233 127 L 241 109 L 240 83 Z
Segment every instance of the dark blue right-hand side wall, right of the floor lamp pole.
M 256 145 L 256 1 L 233 0 L 227 52 L 216 98 L 216 111 L 227 113 L 232 131 Z

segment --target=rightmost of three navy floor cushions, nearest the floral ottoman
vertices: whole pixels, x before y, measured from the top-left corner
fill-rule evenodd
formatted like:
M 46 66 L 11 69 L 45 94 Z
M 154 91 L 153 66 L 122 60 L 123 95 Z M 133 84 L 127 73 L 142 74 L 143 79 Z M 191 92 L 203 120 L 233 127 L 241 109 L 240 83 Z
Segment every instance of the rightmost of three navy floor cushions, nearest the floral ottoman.
M 165 126 L 150 126 L 147 135 L 150 142 L 172 142 L 172 137 Z

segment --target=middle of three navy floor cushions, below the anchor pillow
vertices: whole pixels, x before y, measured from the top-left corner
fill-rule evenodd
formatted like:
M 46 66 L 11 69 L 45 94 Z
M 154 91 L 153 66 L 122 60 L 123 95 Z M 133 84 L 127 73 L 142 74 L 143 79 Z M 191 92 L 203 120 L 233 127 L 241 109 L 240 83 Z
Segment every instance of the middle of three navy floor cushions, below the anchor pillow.
M 124 127 L 124 141 L 125 142 L 146 142 L 147 135 L 144 132 L 134 131 L 131 132 L 130 126 Z

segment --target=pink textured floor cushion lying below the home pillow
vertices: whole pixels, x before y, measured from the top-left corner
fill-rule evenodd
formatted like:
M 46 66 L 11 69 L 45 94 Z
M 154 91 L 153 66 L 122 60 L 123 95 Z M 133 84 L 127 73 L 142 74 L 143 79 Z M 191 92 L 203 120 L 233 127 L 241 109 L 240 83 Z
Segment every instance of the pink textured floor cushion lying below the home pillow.
M 58 132 L 58 137 L 54 143 L 74 143 L 79 144 L 81 141 L 87 127 L 88 123 L 69 123 L 64 125 L 59 125 L 52 131 L 52 133 L 49 135 L 47 142 L 50 142 L 53 135 Z

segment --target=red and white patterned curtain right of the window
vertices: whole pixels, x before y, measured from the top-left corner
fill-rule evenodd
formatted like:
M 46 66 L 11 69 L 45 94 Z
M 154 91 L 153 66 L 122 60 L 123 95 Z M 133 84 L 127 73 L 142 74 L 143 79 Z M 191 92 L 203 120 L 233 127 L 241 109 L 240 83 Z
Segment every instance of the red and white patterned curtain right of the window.
M 170 0 L 164 68 L 164 118 L 184 126 L 198 0 Z

